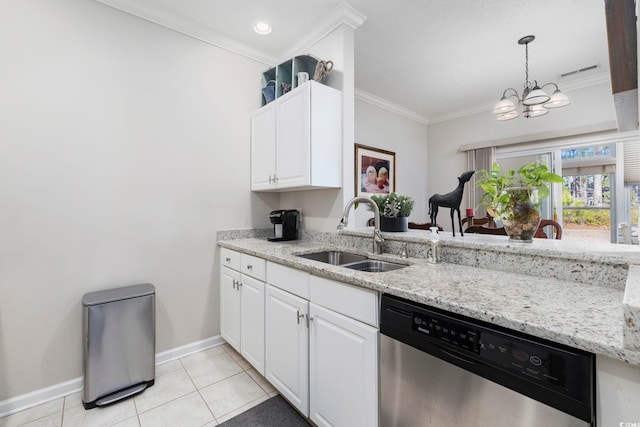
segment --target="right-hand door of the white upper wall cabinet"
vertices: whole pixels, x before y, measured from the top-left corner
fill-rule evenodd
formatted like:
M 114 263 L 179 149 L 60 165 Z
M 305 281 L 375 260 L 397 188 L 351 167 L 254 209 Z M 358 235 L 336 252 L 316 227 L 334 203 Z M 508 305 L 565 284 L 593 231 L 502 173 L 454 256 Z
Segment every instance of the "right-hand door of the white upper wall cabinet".
M 310 184 L 310 88 L 304 85 L 279 100 L 276 122 L 279 188 Z

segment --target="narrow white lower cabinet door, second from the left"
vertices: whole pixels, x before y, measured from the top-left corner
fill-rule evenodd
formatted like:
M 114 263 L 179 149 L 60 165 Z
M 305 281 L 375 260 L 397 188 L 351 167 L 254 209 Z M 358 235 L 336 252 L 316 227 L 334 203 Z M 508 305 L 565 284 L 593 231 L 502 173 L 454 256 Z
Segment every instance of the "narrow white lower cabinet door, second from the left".
M 242 277 L 240 292 L 241 354 L 264 375 L 264 282 Z

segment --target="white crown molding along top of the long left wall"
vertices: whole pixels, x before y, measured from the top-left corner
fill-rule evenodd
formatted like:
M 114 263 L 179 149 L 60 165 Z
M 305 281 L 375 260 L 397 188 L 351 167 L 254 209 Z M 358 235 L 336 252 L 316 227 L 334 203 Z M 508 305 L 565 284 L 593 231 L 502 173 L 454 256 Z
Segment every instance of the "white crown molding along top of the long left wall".
M 136 16 L 145 21 L 158 24 L 165 28 L 177 31 L 178 33 L 200 40 L 202 42 L 217 46 L 221 49 L 228 50 L 235 54 L 244 56 L 254 61 L 273 65 L 276 64 L 276 58 L 274 56 L 265 54 L 262 51 L 256 50 L 244 43 L 237 42 L 230 37 L 227 37 L 217 31 L 206 28 L 191 20 L 184 19 L 180 16 L 171 13 L 165 13 L 162 10 L 154 8 L 145 8 L 132 5 L 127 0 L 96 0 L 106 6 L 113 7 L 122 12 Z

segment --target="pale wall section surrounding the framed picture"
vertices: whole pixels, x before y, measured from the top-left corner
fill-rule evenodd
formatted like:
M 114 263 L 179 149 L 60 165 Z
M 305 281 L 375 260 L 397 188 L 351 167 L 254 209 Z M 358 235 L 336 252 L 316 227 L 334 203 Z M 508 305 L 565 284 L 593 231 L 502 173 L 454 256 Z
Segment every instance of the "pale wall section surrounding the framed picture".
M 415 200 L 409 220 L 427 221 L 427 126 L 362 100 L 356 100 L 355 119 L 356 143 L 396 153 L 396 193 Z M 353 168 L 352 159 L 352 174 Z M 351 186 L 353 192 L 353 181 Z M 371 217 L 373 213 L 360 206 L 349 226 L 364 227 Z

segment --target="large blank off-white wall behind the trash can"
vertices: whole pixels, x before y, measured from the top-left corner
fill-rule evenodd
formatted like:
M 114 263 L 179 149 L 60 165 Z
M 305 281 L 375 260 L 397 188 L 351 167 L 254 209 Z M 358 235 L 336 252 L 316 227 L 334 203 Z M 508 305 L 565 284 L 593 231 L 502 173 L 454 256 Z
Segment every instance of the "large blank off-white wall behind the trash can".
M 249 191 L 263 64 L 93 1 L 0 16 L 1 401 L 82 375 L 86 292 L 153 283 L 158 351 L 217 334 L 216 230 L 277 199 Z

